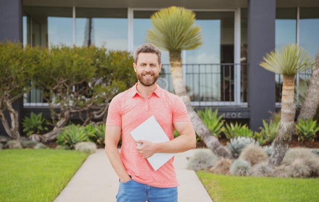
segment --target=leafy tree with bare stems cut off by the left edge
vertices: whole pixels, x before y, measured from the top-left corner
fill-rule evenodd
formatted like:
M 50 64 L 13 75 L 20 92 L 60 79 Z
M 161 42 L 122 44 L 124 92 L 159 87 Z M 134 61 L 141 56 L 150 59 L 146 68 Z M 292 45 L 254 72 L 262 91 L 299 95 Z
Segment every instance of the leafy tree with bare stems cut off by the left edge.
M 32 88 L 39 48 L 22 48 L 18 42 L 0 42 L 0 119 L 12 139 L 20 139 L 19 113 L 13 104 Z M 7 119 L 6 112 L 10 119 Z

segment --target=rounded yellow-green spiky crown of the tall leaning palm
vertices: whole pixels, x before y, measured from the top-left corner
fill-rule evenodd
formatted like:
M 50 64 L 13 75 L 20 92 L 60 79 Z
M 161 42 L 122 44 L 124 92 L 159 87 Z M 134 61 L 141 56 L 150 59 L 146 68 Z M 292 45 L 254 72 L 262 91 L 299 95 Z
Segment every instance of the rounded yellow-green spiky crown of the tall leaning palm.
M 202 44 L 199 25 L 194 25 L 195 13 L 182 7 L 169 7 L 151 17 L 153 27 L 147 30 L 146 41 L 164 50 L 192 50 Z

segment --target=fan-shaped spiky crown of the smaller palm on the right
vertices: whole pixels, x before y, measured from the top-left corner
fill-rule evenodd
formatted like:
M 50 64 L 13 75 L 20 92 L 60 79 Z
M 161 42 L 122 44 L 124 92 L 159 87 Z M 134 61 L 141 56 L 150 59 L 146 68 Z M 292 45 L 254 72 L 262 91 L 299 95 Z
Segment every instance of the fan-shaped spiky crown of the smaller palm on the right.
M 314 58 L 303 47 L 297 44 L 288 44 L 267 53 L 261 67 L 271 72 L 282 75 L 296 75 L 308 70 L 314 64 Z

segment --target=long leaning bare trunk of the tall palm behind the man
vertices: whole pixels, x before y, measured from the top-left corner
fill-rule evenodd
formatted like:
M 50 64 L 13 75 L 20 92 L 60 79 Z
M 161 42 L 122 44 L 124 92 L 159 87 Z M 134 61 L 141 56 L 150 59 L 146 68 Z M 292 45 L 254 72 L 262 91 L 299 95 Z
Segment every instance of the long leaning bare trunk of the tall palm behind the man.
M 180 51 L 170 51 L 170 65 L 175 94 L 179 96 L 186 105 L 196 134 L 202 138 L 205 145 L 214 152 L 214 154 L 220 157 L 233 159 L 232 155 L 224 149 L 220 141 L 215 136 L 211 135 L 204 122 L 200 119 L 192 107 L 191 98 L 187 94 L 183 80 Z

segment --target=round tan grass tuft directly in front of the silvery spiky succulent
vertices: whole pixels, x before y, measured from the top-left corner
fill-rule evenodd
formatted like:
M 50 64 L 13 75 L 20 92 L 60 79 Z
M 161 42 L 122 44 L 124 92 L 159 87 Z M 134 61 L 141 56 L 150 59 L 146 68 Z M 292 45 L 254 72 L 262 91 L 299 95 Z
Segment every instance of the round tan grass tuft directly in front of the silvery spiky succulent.
M 267 160 L 268 155 L 264 153 L 260 146 L 250 144 L 242 150 L 238 158 L 244 159 L 249 162 L 251 166 L 254 166 L 257 163 Z

